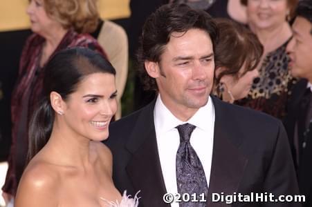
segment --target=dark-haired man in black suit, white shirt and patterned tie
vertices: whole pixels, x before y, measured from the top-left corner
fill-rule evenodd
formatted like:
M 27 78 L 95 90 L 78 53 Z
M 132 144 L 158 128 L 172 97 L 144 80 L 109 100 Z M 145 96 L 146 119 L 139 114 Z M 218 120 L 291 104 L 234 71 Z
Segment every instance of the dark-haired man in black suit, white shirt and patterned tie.
M 291 151 L 277 119 L 210 96 L 217 34 L 209 14 L 185 5 L 149 16 L 140 72 L 158 97 L 111 124 L 114 183 L 131 195 L 140 190 L 145 207 L 170 206 L 166 193 L 185 195 L 172 206 L 228 206 L 230 199 L 232 206 L 297 206 L 251 195 L 297 194 Z M 254 201 L 242 202 L 239 193 Z M 212 202 L 221 195 L 228 197 Z

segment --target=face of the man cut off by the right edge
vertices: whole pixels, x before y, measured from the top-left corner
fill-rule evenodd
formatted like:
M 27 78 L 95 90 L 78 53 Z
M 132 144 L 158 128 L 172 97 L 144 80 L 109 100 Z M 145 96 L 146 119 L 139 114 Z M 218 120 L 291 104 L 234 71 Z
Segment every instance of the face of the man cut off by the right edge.
M 303 17 L 297 17 L 293 23 L 293 39 L 288 43 L 286 51 L 291 61 L 289 68 L 294 77 L 312 81 L 312 24 Z

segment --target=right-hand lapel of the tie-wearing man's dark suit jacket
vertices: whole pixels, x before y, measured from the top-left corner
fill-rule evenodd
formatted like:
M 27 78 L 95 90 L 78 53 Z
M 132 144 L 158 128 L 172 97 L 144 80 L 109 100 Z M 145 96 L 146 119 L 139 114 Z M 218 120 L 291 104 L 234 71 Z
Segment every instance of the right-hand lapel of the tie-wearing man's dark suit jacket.
M 212 152 L 212 166 L 208 190 L 209 206 L 228 206 L 226 202 L 212 203 L 212 193 L 232 195 L 237 192 L 248 159 L 239 151 L 239 129 L 233 129 L 226 112 L 226 103 L 212 97 L 214 102 L 214 146 Z M 237 132 L 238 131 L 238 132 Z M 233 141 L 235 139 L 235 142 Z M 235 143 L 235 144 L 234 144 Z

